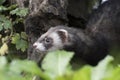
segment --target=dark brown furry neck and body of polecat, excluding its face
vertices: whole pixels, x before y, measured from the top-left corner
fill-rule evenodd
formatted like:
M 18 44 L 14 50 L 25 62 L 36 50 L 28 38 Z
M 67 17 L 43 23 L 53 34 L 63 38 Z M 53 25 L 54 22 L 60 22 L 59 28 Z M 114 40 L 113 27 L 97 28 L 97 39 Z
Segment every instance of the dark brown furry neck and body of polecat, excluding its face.
M 100 5 L 85 31 L 66 26 L 54 29 L 60 28 L 68 31 L 68 41 L 72 43 L 64 45 L 64 49 L 74 51 L 76 57 L 96 65 L 114 46 L 120 45 L 120 0 L 109 0 Z

